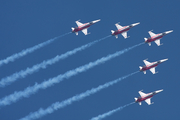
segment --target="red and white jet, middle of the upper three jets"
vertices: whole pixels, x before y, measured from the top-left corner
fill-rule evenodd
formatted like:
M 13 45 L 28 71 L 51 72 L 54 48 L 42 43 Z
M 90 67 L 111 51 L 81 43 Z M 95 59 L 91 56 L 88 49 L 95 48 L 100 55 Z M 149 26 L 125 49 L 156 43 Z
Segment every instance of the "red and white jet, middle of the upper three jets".
M 117 27 L 118 30 L 116 30 L 116 31 L 111 30 L 111 32 L 112 32 L 111 35 L 114 35 L 116 37 L 116 39 L 117 39 L 118 34 L 122 34 L 122 36 L 126 39 L 126 38 L 129 37 L 129 36 L 127 37 L 127 32 L 129 31 L 129 29 L 136 26 L 136 25 L 138 25 L 138 24 L 140 24 L 140 22 L 123 27 L 123 26 L 119 25 L 119 23 L 116 23 L 115 26 Z

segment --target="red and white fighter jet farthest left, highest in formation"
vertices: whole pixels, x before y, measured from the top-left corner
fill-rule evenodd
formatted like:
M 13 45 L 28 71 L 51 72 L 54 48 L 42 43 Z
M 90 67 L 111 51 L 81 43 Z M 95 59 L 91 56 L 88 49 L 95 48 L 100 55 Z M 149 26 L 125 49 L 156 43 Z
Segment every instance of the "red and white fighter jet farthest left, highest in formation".
M 82 31 L 85 35 L 88 35 L 89 33 L 87 32 L 87 29 L 88 29 L 91 25 L 99 22 L 100 19 L 99 19 L 99 20 L 94 20 L 94 21 L 91 21 L 91 22 L 88 22 L 88 23 L 84 23 L 84 24 L 81 23 L 81 22 L 79 22 L 79 21 L 80 21 L 80 20 L 76 21 L 76 24 L 77 24 L 78 27 L 75 27 L 75 28 L 72 27 L 72 28 L 71 28 L 71 29 L 72 29 L 72 32 L 75 32 L 76 35 L 78 35 L 78 31 Z

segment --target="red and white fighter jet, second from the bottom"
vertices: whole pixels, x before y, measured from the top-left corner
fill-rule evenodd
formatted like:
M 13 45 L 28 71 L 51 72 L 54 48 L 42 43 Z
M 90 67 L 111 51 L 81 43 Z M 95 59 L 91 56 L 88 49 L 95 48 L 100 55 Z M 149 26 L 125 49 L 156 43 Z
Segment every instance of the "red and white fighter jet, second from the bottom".
M 167 61 L 168 59 L 163 59 L 163 60 L 159 60 L 159 61 L 156 61 L 156 62 L 148 62 L 147 60 L 143 60 L 145 66 L 141 67 L 139 66 L 140 68 L 140 71 L 143 71 L 144 74 L 146 74 L 146 70 L 150 70 L 153 74 L 157 73 L 155 72 L 155 68 L 160 64 L 160 63 L 163 63 L 165 61 Z

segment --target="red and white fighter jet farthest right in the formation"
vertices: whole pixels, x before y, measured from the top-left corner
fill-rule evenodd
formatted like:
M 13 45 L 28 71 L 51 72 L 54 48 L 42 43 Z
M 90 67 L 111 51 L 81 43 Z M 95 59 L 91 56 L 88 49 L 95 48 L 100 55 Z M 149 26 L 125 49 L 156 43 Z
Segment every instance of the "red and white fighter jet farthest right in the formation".
M 150 35 L 151 37 L 149 37 L 149 38 L 144 38 L 145 43 L 148 43 L 149 46 L 151 46 L 151 42 L 154 41 L 158 46 L 160 46 L 160 45 L 161 45 L 161 44 L 160 44 L 160 39 L 161 39 L 163 36 L 165 36 L 165 35 L 167 35 L 167 34 L 169 34 L 169 33 L 171 33 L 171 32 L 173 32 L 173 30 L 166 31 L 166 32 L 163 32 L 163 33 L 159 33 L 159 34 L 155 34 L 155 33 L 151 32 L 151 31 L 149 31 L 148 33 L 149 33 L 149 35 Z

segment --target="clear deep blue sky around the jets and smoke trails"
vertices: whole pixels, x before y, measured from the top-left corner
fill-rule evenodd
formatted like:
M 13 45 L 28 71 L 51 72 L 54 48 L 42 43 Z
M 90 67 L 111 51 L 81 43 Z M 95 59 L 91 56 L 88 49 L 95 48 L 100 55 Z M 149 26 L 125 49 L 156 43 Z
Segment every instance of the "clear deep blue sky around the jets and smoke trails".
M 154 33 L 174 30 L 173 33 L 163 37 L 161 40 L 163 45 L 160 47 L 155 43 L 152 43 L 150 47 L 147 44 L 141 45 L 86 72 L 65 79 L 53 87 L 40 90 L 29 98 L 2 107 L 0 118 L 2 120 L 20 119 L 41 107 L 47 108 L 54 102 L 61 102 L 88 89 L 136 72 L 140 65 L 144 65 L 142 60 L 146 58 L 150 62 L 169 58 L 167 62 L 156 68 L 156 71 L 159 71 L 158 74 L 153 75 L 149 71 L 146 75 L 137 73 L 107 89 L 46 115 L 40 120 L 91 119 L 133 102 L 134 97 L 139 96 L 138 91 L 142 89 L 147 93 L 158 89 L 164 89 L 164 91 L 152 98 L 154 104 L 151 106 L 145 102 L 142 106 L 133 104 L 105 119 L 179 120 L 179 4 L 178 1 L 169 0 L 0 1 L 0 59 L 70 32 L 71 27 L 76 26 L 76 20 L 81 19 L 81 22 L 85 23 L 101 19 L 99 23 L 88 29 L 90 35 L 85 36 L 82 32 L 79 32 L 78 36 L 69 34 L 31 54 L 1 66 L 0 78 L 108 36 L 111 34 L 110 30 L 116 30 L 114 24 L 117 22 L 120 22 L 122 26 L 140 22 L 128 32 L 130 36 L 128 39 L 124 39 L 121 35 L 118 39 L 107 38 L 46 69 L 19 79 L 5 88 L 0 88 L 1 98 L 108 54 L 144 42 L 144 37 L 149 37 L 149 30 L 153 30 Z

